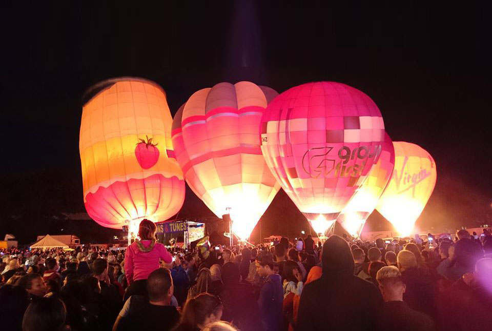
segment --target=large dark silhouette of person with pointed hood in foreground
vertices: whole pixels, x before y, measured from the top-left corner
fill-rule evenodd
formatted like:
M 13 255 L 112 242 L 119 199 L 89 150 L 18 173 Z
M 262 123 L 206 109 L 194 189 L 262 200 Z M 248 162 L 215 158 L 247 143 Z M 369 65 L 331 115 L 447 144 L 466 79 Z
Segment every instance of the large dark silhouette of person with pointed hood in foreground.
M 383 300 L 374 285 L 354 276 L 348 243 L 328 238 L 321 261 L 321 278 L 302 290 L 296 330 L 376 330 Z

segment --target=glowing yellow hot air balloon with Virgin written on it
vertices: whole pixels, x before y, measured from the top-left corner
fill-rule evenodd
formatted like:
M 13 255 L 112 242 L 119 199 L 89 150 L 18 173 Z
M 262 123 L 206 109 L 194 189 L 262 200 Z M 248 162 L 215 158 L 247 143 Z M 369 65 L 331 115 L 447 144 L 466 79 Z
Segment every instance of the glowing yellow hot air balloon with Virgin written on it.
M 418 145 L 393 142 L 393 146 L 395 169 L 376 209 L 401 236 L 408 236 L 436 185 L 436 162 Z

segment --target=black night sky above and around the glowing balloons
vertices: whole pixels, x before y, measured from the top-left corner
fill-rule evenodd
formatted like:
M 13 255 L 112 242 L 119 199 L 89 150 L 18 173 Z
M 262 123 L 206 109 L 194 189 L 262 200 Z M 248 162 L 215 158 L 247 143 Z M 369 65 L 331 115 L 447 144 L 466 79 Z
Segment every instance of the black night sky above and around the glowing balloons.
M 157 82 L 173 114 L 196 90 L 224 81 L 278 92 L 311 81 L 351 85 L 376 102 L 394 141 L 416 143 L 436 160 L 437 185 L 417 226 L 492 223 L 488 8 L 410 1 L 156 3 L 2 2 L 0 236 L 30 231 L 31 240 L 57 212 L 84 211 L 81 96 L 116 76 Z M 181 216 L 202 215 L 211 212 L 188 189 Z M 308 228 L 283 192 L 261 224 L 262 236 Z M 368 227 L 388 223 L 375 212 Z

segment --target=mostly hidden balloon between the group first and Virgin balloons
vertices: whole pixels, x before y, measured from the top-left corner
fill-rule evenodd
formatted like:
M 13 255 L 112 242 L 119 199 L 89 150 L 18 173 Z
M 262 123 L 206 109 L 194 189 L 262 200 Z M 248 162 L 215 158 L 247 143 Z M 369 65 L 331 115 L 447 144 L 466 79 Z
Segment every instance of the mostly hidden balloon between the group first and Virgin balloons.
M 352 236 L 359 237 L 365 221 L 378 204 L 395 166 L 395 149 L 387 133 L 381 143 L 381 155 L 367 174 L 364 183 L 359 187 L 352 199 L 343 208 L 337 221 Z

